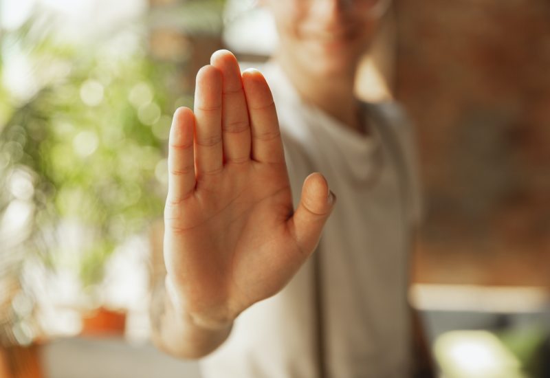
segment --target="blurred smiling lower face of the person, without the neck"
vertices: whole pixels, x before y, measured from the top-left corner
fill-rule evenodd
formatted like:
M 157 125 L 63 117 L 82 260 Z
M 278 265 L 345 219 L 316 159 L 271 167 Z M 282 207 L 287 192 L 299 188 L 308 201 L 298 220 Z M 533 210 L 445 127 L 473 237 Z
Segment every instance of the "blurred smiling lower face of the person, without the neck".
M 318 75 L 353 74 L 389 0 L 265 0 L 280 58 Z

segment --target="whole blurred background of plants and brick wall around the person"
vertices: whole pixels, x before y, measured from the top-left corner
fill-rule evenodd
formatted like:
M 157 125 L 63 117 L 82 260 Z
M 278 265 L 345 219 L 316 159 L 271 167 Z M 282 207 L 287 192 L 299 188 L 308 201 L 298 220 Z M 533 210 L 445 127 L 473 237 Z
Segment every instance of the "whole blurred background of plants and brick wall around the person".
M 200 377 L 148 341 L 171 115 L 253 0 L 0 0 L 0 377 Z M 417 127 L 410 302 L 445 377 L 550 377 L 550 3 L 395 0 L 357 90 Z

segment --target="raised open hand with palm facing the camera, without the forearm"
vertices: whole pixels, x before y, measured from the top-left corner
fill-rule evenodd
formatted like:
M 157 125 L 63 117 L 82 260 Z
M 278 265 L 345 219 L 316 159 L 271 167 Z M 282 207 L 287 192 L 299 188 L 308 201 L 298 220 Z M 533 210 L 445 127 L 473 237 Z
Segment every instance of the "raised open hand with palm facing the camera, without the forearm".
M 221 50 L 197 74 L 195 111 L 170 131 L 164 258 L 168 293 L 195 324 L 228 326 L 280 291 L 314 251 L 334 196 L 305 179 L 293 212 L 276 109 L 259 71 Z

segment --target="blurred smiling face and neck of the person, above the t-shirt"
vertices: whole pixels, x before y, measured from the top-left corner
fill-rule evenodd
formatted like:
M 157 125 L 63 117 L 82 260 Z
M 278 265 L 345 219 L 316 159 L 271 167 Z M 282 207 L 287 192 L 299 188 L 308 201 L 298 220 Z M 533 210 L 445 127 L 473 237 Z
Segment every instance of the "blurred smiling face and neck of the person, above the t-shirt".
M 375 12 L 384 8 L 382 3 L 386 2 L 263 1 L 278 30 L 276 59 L 300 96 L 362 132 L 355 76 L 373 41 L 379 23 Z

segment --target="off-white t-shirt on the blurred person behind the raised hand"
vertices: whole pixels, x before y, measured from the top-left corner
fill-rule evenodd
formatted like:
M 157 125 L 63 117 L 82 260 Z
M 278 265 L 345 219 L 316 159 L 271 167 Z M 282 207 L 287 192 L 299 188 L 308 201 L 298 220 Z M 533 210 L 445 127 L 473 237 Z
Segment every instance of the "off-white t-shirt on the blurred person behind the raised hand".
M 278 66 L 261 71 L 294 204 L 314 171 L 338 201 L 314 255 L 281 292 L 239 315 L 228 340 L 201 359 L 203 377 L 406 377 L 408 236 L 421 210 L 408 122 L 396 104 L 366 105 L 370 124 L 373 110 L 379 123 L 361 135 L 300 100 Z M 381 127 L 392 129 L 393 144 Z

